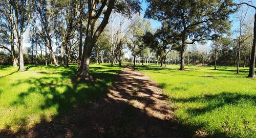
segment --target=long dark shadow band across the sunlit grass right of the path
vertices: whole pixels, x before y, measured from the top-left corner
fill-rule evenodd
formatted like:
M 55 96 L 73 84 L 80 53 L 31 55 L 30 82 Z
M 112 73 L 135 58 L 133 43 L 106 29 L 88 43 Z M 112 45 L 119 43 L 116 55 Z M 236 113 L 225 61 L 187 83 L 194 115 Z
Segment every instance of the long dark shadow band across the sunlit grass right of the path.
M 187 107 L 185 109 L 186 115 L 189 117 L 196 117 L 196 116 L 201 116 L 206 113 L 212 113 L 216 109 L 220 109 L 226 105 L 238 105 L 241 103 L 241 101 L 246 100 L 252 101 L 254 105 L 256 105 L 256 96 L 255 95 L 247 95 L 247 94 L 239 94 L 239 93 L 230 93 L 230 92 L 222 92 L 219 94 L 213 94 L 213 95 L 202 95 L 202 96 L 197 96 L 197 97 L 189 97 L 189 98 L 169 98 L 170 101 L 173 101 L 174 103 L 182 103 L 182 104 L 189 104 L 189 103 L 201 103 L 203 102 L 204 105 L 203 107 Z M 184 120 L 186 121 L 186 120 Z M 183 121 L 181 121 L 183 122 Z M 202 128 L 205 127 L 206 124 L 201 123 Z M 194 132 L 198 130 L 197 127 L 190 127 L 190 132 Z M 230 137 L 228 133 L 223 133 L 220 128 L 215 130 L 214 134 L 208 135 L 209 137 Z M 252 130 L 251 130 L 252 131 Z M 229 136 L 228 136 L 229 135 Z

